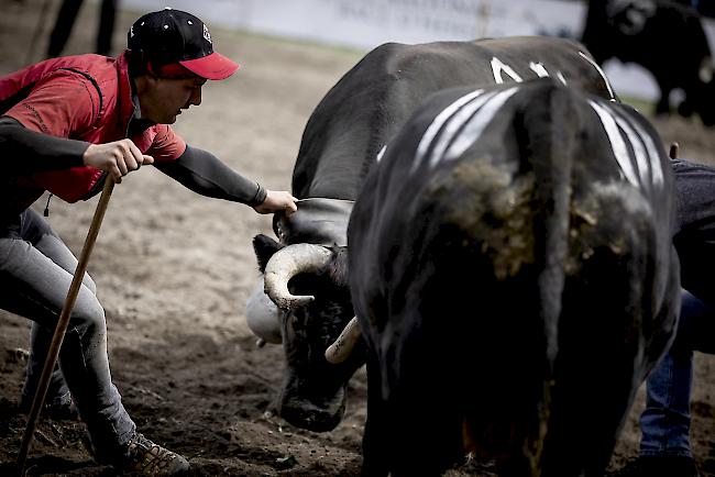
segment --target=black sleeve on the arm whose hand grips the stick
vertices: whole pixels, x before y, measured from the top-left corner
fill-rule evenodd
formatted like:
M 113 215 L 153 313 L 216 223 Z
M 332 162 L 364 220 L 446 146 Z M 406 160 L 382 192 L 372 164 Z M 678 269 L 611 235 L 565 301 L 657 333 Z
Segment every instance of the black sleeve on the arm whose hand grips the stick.
M 89 143 L 84 141 L 31 131 L 13 118 L 0 117 L 0 157 L 2 168 L 11 174 L 84 166 L 87 147 Z

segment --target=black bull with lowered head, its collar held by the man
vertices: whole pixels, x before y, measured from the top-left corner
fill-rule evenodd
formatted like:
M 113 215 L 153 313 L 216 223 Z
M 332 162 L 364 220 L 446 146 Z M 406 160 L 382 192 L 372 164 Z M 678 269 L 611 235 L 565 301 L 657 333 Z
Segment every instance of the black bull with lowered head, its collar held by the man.
M 265 298 L 263 286 L 248 307 L 252 329 L 267 341 L 283 342 L 286 363 L 277 408 L 288 422 L 332 430 L 344 412 L 348 380 L 364 364 L 361 346 L 341 364 L 328 363 L 323 353 L 353 317 L 345 229 L 352 201 L 381 149 L 429 93 L 540 76 L 614 97 L 581 44 L 534 36 L 385 44 L 349 70 L 316 107 L 293 175 L 293 193 L 302 199 L 298 212 L 290 220 L 276 217 L 279 242 L 254 239 L 266 291 L 279 310 Z

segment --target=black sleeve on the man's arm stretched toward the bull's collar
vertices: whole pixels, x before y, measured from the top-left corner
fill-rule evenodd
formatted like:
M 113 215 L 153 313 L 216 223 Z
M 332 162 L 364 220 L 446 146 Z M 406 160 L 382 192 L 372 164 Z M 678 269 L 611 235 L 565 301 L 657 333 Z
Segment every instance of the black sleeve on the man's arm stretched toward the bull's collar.
M 266 190 L 260 184 L 246 179 L 213 154 L 197 147 L 186 146 L 176 160 L 156 162 L 154 166 L 201 196 L 251 207 L 260 206 L 266 197 Z

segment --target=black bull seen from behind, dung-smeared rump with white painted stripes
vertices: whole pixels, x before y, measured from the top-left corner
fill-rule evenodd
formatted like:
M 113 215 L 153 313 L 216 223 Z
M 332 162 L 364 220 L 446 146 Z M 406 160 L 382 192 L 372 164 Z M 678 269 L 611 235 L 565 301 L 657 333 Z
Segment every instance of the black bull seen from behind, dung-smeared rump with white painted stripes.
M 603 475 L 676 320 L 669 163 L 634 110 L 549 78 L 420 108 L 349 225 L 364 475 L 465 450 L 499 475 Z

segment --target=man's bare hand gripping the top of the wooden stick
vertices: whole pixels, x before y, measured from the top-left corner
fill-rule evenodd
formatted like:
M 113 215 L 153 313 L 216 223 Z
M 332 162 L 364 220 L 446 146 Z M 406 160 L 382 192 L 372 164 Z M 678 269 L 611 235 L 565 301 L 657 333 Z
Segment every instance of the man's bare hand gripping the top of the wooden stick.
M 142 164 L 154 163 L 154 158 L 142 154 L 132 140 L 90 144 L 82 155 L 82 160 L 86 166 L 111 174 L 117 184 L 122 181 L 122 176 L 139 169 Z

